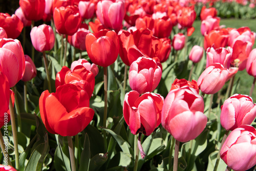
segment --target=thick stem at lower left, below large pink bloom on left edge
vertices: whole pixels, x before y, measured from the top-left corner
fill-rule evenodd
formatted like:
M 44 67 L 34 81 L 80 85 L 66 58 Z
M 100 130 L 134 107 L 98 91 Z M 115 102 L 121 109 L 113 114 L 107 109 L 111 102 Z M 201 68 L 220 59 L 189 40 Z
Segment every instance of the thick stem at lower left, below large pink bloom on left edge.
M 10 110 L 10 116 L 11 116 L 12 136 L 13 136 L 13 143 L 14 143 L 15 168 L 18 170 L 19 169 L 18 139 L 17 139 L 17 130 L 16 130 L 15 116 L 14 116 L 11 96 L 9 100 L 9 110 Z

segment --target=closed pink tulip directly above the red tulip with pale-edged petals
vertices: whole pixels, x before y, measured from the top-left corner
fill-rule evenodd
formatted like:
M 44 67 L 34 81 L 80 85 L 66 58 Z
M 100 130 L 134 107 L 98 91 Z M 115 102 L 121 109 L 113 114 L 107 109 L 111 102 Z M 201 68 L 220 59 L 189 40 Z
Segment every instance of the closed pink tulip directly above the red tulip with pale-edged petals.
M 152 58 L 139 57 L 129 71 L 129 82 L 132 90 L 139 94 L 154 91 L 161 79 L 162 70 Z

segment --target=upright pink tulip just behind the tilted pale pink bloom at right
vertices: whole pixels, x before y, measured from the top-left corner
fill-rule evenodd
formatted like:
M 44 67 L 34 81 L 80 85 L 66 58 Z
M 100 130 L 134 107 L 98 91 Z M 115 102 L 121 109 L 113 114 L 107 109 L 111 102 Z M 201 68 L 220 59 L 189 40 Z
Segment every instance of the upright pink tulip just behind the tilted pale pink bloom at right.
M 217 48 L 214 46 L 206 50 L 206 68 L 212 63 L 221 63 L 224 68 L 230 67 L 231 53 L 225 48 Z

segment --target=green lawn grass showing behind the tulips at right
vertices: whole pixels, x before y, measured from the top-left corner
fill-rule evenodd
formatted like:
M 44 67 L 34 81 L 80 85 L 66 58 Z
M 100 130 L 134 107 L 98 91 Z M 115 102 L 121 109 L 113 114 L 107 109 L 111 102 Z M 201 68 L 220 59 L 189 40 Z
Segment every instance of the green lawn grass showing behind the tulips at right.
M 221 19 L 220 25 L 225 25 L 225 28 L 231 27 L 231 28 L 240 28 L 240 27 L 249 27 L 251 31 L 256 32 L 256 19 Z M 201 21 L 196 20 L 193 24 L 195 27 L 195 32 L 192 36 L 196 37 L 202 37 L 201 35 Z M 256 44 L 254 43 L 253 49 L 256 48 Z M 246 69 L 243 71 L 239 71 L 236 74 L 236 77 L 234 79 L 234 82 L 238 82 L 239 85 L 236 90 L 234 90 L 235 93 L 239 94 L 246 94 L 249 95 L 251 84 L 253 82 L 253 77 L 248 75 L 246 72 Z M 256 88 L 253 91 L 252 99 L 254 102 L 256 102 Z

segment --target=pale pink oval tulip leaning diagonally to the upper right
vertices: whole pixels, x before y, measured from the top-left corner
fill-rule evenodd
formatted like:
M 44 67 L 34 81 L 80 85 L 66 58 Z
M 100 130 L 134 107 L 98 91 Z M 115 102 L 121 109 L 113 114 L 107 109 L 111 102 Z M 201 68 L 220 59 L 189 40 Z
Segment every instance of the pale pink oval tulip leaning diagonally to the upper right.
M 212 63 L 198 78 L 197 84 L 204 94 L 215 94 L 224 86 L 228 78 L 228 69 L 220 63 Z

